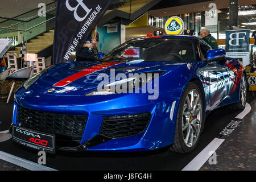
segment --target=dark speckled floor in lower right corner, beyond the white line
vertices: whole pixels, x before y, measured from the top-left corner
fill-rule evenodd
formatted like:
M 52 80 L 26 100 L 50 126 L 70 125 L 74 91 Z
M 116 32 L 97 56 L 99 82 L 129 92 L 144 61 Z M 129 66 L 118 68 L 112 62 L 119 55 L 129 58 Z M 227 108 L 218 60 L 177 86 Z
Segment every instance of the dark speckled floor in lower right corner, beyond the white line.
M 243 119 L 237 119 L 240 125 L 230 134 L 223 136 L 224 143 L 217 149 L 217 164 L 208 162 L 200 170 L 251 170 L 256 171 L 256 102 Z

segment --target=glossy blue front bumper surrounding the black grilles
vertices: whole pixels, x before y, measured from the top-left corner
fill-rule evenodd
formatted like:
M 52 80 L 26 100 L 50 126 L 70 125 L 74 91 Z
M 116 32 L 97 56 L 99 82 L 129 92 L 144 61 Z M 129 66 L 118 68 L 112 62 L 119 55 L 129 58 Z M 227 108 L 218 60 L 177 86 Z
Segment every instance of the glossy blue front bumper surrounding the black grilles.
M 147 94 L 116 94 L 113 96 L 60 96 L 36 94 L 15 95 L 13 123 L 17 120 L 18 106 L 28 109 L 88 117 L 80 144 L 72 147 L 56 146 L 64 151 L 147 151 L 174 143 L 177 108 L 181 92 L 159 93 L 158 100 L 148 100 Z M 106 100 L 108 97 L 108 100 Z M 85 104 L 86 103 L 86 104 Z M 151 113 L 147 128 L 131 137 L 111 139 L 100 134 L 104 117 Z

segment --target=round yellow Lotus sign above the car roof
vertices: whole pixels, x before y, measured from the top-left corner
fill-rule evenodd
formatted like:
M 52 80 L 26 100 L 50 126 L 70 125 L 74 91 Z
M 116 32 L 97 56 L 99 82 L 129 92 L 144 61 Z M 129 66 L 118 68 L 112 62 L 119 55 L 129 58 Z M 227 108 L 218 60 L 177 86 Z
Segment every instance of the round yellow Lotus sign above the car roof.
M 167 35 L 180 35 L 184 31 L 184 22 L 178 16 L 169 18 L 165 25 Z

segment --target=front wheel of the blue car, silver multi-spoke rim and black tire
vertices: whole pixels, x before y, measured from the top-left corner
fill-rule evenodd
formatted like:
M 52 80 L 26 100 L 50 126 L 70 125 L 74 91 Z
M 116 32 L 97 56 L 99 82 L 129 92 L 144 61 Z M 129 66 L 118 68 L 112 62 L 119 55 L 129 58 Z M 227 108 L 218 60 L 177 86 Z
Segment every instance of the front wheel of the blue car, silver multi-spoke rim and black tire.
M 193 100 L 191 99 L 192 94 L 194 95 Z M 197 100 L 198 96 L 199 99 Z M 197 105 L 195 103 L 196 100 Z M 195 106 L 195 111 L 193 107 L 189 108 L 187 104 L 188 102 L 192 103 L 192 106 Z M 200 107 L 201 109 L 199 109 Z M 198 110 L 199 112 L 197 113 Z M 189 82 L 184 90 L 183 96 L 181 97 L 177 114 L 175 139 L 174 144 L 172 144 L 170 147 L 171 151 L 189 153 L 196 148 L 197 143 L 199 142 L 200 134 L 203 130 L 204 115 L 204 99 L 202 97 L 202 93 L 200 92 L 199 86 L 193 82 Z M 192 134 L 189 134 L 189 131 L 192 131 Z

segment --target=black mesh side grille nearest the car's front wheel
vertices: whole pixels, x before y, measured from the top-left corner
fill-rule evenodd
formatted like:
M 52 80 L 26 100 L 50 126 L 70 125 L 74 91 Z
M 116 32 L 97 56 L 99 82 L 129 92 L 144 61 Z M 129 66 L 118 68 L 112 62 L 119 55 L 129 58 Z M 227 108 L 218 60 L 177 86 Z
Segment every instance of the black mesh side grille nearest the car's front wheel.
M 147 128 L 150 119 L 150 113 L 104 117 L 100 134 L 112 139 L 138 135 Z

